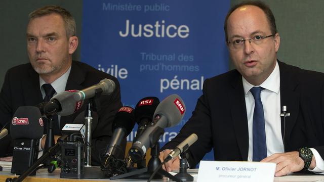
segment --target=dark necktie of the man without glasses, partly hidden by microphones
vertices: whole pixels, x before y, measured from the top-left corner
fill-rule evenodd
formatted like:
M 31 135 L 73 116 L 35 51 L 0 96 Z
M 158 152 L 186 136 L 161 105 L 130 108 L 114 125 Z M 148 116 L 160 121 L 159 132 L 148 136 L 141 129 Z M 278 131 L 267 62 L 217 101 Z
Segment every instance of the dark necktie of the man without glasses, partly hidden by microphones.
M 53 95 L 55 94 L 55 89 L 51 84 L 43 84 L 42 85 L 45 90 L 45 98 L 43 102 L 49 102 Z M 53 117 L 53 132 L 55 135 L 61 135 L 59 130 L 59 120 L 57 114 L 54 114 Z M 44 122 L 44 134 L 47 133 L 47 122 Z

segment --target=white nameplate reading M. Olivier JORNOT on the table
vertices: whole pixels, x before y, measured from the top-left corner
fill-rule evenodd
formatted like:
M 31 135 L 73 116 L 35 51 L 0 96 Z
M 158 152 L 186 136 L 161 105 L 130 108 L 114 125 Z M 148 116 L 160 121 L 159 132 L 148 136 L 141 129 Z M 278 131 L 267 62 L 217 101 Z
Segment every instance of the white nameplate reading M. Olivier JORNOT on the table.
M 273 182 L 275 163 L 200 161 L 197 182 Z

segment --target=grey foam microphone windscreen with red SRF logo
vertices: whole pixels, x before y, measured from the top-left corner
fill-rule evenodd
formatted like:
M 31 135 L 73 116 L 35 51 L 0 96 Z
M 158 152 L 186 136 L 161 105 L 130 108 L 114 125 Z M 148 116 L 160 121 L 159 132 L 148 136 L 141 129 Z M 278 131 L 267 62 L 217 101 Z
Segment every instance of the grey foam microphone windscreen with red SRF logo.
M 156 115 L 164 115 L 168 119 L 166 127 L 171 127 L 178 124 L 183 118 L 186 111 L 186 106 L 180 96 L 173 94 L 164 99 L 156 107 L 154 117 Z

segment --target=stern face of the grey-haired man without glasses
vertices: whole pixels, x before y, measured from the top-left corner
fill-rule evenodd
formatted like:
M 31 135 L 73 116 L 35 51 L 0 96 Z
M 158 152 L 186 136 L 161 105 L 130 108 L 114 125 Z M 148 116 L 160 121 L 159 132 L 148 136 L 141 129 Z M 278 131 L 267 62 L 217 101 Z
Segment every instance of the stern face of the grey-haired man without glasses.
M 27 51 L 32 67 L 39 74 L 62 74 L 68 69 L 69 39 L 60 15 L 50 14 L 29 21 Z

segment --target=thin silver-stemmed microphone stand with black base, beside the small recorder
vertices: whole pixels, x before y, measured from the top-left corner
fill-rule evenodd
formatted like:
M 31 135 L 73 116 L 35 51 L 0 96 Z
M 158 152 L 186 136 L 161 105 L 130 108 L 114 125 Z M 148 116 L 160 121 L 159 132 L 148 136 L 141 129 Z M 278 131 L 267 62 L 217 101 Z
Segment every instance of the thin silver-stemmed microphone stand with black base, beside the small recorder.
M 85 154 L 85 175 L 84 178 L 107 178 L 100 167 L 91 166 L 91 147 L 92 147 L 92 119 L 93 111 L 100 110 L 99 98 L 102 94 L 102 89 L 95 90 L 95 96 L 89 99 L 87 110 L 85 112 L 85 125 L 86 125 L 86 154 Z

